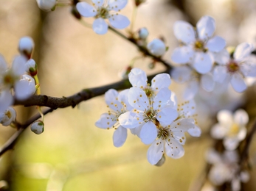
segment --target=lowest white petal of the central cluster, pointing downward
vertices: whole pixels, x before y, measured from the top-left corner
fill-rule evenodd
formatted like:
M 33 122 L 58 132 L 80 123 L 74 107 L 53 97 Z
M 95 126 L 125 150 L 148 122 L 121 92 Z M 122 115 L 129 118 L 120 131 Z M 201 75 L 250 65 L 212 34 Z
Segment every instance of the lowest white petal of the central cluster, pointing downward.
M 155 140 L 151 146 L 148 148 L 148 162 L 151 165 L 156 165 L 157 162 L 162 158 L 162 154 L 164 153 L 164 144 L 163 140 Z

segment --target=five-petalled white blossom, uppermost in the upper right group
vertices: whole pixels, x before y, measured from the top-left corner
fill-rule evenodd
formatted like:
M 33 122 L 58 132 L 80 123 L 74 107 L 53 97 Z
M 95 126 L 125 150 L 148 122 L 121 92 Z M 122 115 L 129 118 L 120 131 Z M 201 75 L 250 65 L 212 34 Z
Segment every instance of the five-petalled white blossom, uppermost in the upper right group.
M 177 64 L 190 63 L 198 73 L 208 73 L 212 69 L 212 53 L 221 51 L 226 42 L 222 37 L 212 37 L 215 20 L 203 16 L 196 24 L 196 30 L 185 21 L 176 21 L 174 35 L 181 42 L 181 47 L 173 51 L 171 59 Z

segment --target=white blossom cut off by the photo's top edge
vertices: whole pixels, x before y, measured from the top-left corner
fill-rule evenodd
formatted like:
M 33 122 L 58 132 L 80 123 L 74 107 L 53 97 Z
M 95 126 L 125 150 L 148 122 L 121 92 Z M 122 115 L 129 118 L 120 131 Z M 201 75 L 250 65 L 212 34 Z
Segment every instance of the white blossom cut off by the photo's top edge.
M 120 15 L 128 0 L 91 0 L 92 5 L 87 2 L 77 3 L 77 10 L 83 17 L 94 17 L 92 28 L 99 35 L 108 32 L 108 24 L 104 19 L 108 18 L 111 26 L 117 29 L 124 29 L 130 24 L 125 15 Z

